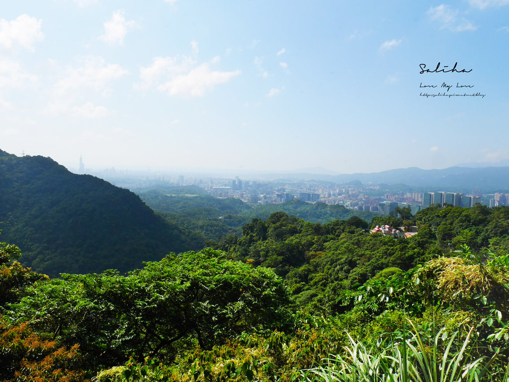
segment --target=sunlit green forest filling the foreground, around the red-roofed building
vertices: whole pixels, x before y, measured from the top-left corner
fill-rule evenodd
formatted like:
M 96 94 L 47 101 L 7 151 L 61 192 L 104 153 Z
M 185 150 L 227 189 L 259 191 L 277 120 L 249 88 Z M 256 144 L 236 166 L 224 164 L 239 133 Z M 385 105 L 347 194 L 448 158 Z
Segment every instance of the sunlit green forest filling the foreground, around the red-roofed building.
M 380 217 L 321 224 L 276 212 L 124 276 L 49 279 L 3 243 L 0 376 L 507 382 L 508 216 L 430 207 L 405 216 L 417 235 L 395 239 L 367 232 Z

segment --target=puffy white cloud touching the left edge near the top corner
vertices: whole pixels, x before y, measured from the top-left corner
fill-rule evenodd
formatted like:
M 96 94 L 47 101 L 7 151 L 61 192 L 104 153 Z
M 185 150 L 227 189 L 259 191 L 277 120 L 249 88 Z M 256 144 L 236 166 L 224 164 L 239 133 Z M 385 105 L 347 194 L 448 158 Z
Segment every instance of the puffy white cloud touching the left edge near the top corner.
M 15 20 L 0 19 L 0 47 L 11 49 L 21 46 L 34 50 L 34 44 L 44 39 L 42 20 L 23 14 Z

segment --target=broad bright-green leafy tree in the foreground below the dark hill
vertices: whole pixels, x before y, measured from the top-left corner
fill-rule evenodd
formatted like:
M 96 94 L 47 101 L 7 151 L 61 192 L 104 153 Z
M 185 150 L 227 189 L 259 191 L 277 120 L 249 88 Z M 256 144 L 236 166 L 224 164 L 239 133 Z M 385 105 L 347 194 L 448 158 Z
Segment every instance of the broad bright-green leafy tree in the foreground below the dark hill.
M 35 285 L 20 304 L 41 332 L 79 343 L 96 368 L 134 357 L 173 359 L 242 332 L 290 322 L 287 288 L 272 270 L 228 260 L 220 251 L 169 255 L 120 276 L 63 275 Z

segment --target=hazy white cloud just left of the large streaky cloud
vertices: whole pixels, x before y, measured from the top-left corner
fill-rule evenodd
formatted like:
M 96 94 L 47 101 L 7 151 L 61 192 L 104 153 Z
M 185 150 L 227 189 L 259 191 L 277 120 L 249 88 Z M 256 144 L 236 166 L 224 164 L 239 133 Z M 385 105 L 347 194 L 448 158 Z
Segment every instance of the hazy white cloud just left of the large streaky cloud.
M 127 70 L 118 64 L 106 64 L 102 57 L 84 57 L 77 67 L 68 67 L 65 77 L 55 85 L 59 96 L 66 96 L 71 90 L 94 89 L 109 94 L 111 81 L 127 74 Z

